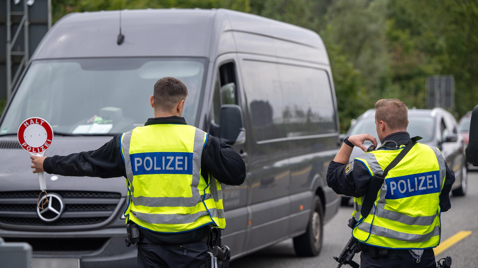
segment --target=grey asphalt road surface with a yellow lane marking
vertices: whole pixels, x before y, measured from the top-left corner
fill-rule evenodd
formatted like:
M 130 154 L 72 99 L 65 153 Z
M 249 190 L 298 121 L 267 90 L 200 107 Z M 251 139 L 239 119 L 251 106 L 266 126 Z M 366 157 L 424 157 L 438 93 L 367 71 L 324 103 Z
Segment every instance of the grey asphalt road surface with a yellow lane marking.
M 436 259 L 452 257 L 452 268 L 478 267 L 478 172 L 468 173 L 467 196 L 451 197 L 452 208 L 441 216 L 442 237 Z M 287 239 L 256 253 L 233 260 L 231 268 L 335 268 L 337 262 L 332 256 L 338 256 L 348 239 L 347 227 L 352 207 L 342 206 L 337 215 L 324 226 L 324 245 L 317 257 L 296 257 L 292 239 Z M 471 231 L 460 232 L 460 231 Z M 469 234 L 469 235 L 468 235 Z M 452 237 L 454 236 L 454 237 Z M 459 237 L 464 237 L 459 240 Z M 450 238 L 451 237 L 451 238 Z M 450 238 L 450 239 L 448 239 Z M 447 240 L 448 239 L 448 240 Z M 448 248 L 442 250 L 444 246 Z M 437 251 L 435 250 L 435 252 Z M 435 254 L 436 255 L 436 254 Z M 360 262 L 357 254 L 355 261 Z M 350 266 L 345 266 L 350 267 Z

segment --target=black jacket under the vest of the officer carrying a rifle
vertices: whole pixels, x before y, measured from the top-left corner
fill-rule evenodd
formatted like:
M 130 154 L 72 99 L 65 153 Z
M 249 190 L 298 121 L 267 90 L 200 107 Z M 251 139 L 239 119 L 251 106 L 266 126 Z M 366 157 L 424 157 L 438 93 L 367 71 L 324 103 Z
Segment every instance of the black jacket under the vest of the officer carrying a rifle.
M 410 142 L 410 134 L 408 132 L 396 132 L 383 138 L 387 141 L 381 145 L 380 149 L 396 150 L 396 146 L 408 144 Z M 397 143 L 397 144 L 395 144 Z M 327 168 L 327 185 L 332 188 L 337 194 L 346 196 L 360 197 L 365 196 L 367 192 L 368 183 L 371 179 L 369 171 L 365 165 L 359 161 L 352 160 L 350 165 L 351 170 L 345 172 L 346 164 L 335 161 L 330 162 Z M 451 208 L 450 190 L 455 182 L 455 173 L 446 165 L 445 184 L 440 193 L 440 208 L 442 212 Z

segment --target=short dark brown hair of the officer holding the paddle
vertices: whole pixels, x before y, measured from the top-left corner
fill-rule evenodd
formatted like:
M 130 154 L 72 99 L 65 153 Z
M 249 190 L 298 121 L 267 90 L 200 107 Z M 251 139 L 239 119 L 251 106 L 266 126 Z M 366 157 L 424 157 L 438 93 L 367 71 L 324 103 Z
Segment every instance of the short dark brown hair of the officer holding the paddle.
M 187 87 L 183 82 L 174 77 L 163 77 L 154 84 L 154 108 L 171 111 L 187 95 Z

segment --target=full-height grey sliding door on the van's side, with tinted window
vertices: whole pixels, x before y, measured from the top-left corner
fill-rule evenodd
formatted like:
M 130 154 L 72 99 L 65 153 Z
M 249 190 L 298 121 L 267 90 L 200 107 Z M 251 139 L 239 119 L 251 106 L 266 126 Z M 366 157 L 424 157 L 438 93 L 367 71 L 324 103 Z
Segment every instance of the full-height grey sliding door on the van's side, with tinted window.
M 289 235 L 290 169 L 284 107 L 275 57 L 239 54 L 247 99 L 249 144 L 248 239 L 252 250 Z

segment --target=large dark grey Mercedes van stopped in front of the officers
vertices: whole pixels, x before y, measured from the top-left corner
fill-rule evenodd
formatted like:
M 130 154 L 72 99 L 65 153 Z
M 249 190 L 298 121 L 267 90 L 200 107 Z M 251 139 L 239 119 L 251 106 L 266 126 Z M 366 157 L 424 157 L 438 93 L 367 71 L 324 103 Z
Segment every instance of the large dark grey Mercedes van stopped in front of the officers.
M 16 132 L 39 116 L 55 132 L 45 156 L 95 150 L 143 125 L 153 84 L 174 76 L 189 90 L 186 122 L 233 144 L 247 165 L 243 185 L 223 186 L 221 244 L 237 258 L 293 237 L 298 255 L 317 255 L 340 205 L 325 180 L 338 119 L 320 37 L 231 10 L 124 10 L 120 45 L 118 33 L 118 11 L 72 13 L 38 46 L 0 118 L 0 237 L 30 243 L 47 263 L 134 266 L 125 178 L 46 174 L 53 205 L 65 206 L 45 222 Z

